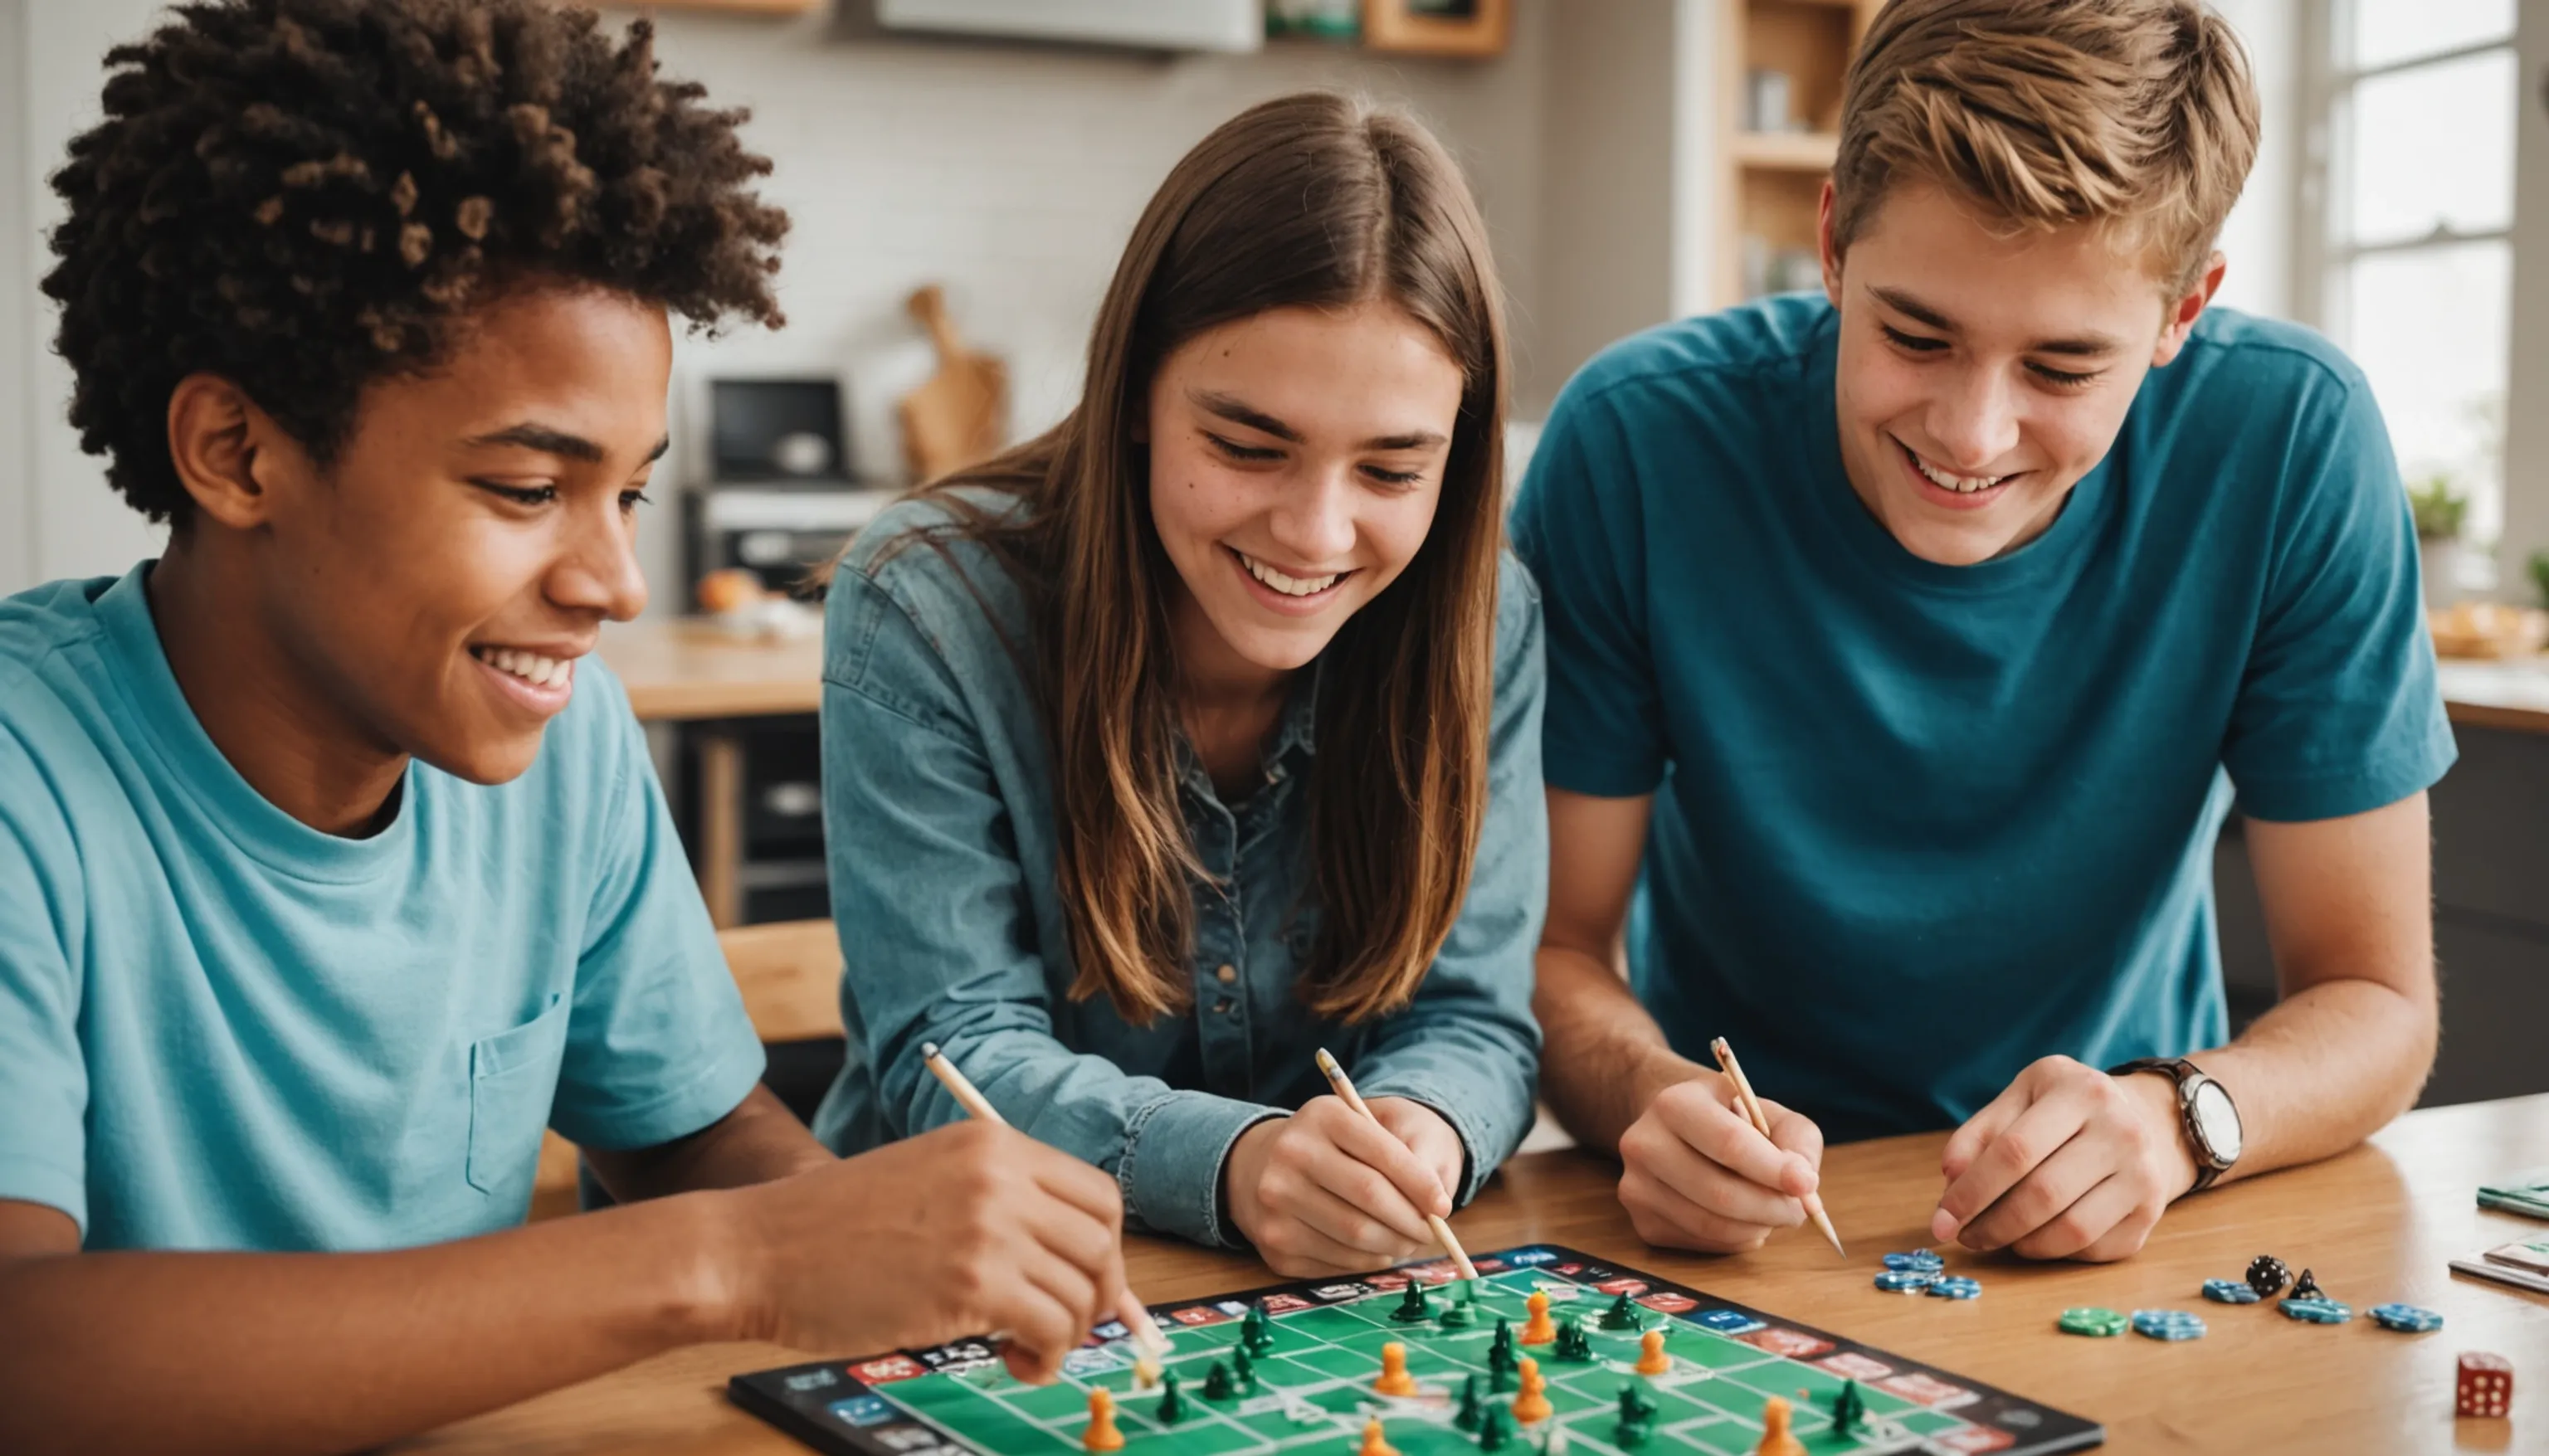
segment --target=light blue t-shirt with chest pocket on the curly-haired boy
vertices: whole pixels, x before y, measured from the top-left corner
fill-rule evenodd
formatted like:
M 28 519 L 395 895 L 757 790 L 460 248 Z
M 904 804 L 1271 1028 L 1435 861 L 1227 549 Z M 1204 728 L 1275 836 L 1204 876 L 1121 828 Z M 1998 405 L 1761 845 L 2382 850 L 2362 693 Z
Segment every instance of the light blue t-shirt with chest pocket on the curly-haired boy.
M 530 770 L 410 762 L 370 839 L 268 803 L 143 581 L 0 602 L 0 1198 L 89 1249 L 385 1249 L 520 1224 L 543 1125 L 647 1147 L 762 1074 L 627 696 Z

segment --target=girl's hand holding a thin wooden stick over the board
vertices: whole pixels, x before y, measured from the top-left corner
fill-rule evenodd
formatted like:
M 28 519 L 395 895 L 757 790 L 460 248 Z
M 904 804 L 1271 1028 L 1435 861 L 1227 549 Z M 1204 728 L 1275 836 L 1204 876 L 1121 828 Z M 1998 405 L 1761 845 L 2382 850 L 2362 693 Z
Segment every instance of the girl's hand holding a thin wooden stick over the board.
M 1458 1178 L 1461 1140 L 1402 1096 L 1374 1102 L 1371 1114 L 1392 1127 L 1374 1127 L 1338 1096 L 1315 1096 L 1292 1117 L 1249 1127 L 1231 1147 L 1221 1168 L 1231 1221 L 1277 1275 L 1351 1275 L 1433 1247 L 1425 1216 L 1450 1214 L 1443 1147 L 1448 1178 Z

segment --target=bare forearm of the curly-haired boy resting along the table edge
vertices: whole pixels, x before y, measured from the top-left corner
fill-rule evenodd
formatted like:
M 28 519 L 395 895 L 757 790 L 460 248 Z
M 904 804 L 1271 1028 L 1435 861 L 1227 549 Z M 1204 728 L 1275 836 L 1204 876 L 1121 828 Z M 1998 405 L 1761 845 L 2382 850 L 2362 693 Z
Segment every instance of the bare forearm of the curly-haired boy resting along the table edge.
M 749 1316 L 724 1198 L 380 1255 L 0 1265 L 0 1451 L 354 1451 L 734 1339 Z

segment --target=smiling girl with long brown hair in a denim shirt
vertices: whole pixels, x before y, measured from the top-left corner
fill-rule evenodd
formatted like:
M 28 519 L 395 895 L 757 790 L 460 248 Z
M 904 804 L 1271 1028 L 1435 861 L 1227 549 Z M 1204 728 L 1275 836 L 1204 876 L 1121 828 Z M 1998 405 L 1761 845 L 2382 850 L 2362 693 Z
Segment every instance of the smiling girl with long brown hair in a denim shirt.
M 1504 370 L 1415 120 L 1297 94 L 1178 163 L 1078 408 L 834 574 L 826 1142 L 961 1117 L 938 1043 L 1132 1219 L 1282 1272 L 1415 1255 L 1514 1150 L 1547 824 Z

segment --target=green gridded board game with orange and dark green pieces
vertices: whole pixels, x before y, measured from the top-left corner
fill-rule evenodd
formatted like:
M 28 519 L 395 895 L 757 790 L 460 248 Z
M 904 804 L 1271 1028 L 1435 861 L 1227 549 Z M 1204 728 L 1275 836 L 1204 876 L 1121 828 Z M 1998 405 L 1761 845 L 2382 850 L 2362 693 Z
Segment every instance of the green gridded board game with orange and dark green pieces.
M 2105 1433 L 2077 1415 L 1935 1369 L 1917 1359 L 1807 1329 L 1575 1249 L 1532 1244 L 1473 1260 L 1478 1283 L 1448 1262 L 1425 1262 L 1333 1283 L 1287 1283 L 1152 1313 L 1170 1339 L 1167 1372 L 1183 1413 L 1160 1420 L 1162 1392 L 1134 1390 L 1124 1326 L 1099 1326 L 1063 1362 L 1055 1385 L 1009 1377 L 989 1341 L 971 1339 L 851 1362 L 793 1364 L 737 1374 L 726 1395 L 816 1451 L 834 1456 L 1071 1456 L 1083 1451 L 1091 1390 L 1111 1392 L 1129 1456 L 1257 1456 L 1320 1451 L 1348 1456 L 1379 1418 L 1402 1456 L 1481 1451 L 1463 1431 L 1458 1395 L 1494 1380 L 1496 1323 L 1522 1331 L 1532 1293 L 1563 1316 L 1557 1344 L 1524 1344 L 1537 1359 L 1550 1415 L 1496 1425 L 1517 1456 L 1751 1456 L 1766 1397 L 1792 1402 L 1789 1431 L 1815 1456 L 1879 1451 L 2006 1451 L 2039 1456 L 2098 1446 Z M 1407 1285 L 1425 1285 L 1427 1313 Z M 1468 1295 L 1468 1308 L 1455 1311 Z M 1626 1303 L 1621 1303 L 1626 1295 Z M 1262 1311 L 1252 1318 L 1249 1311 Z M 1621 1318 L 1626 1316 L 1626 1318 Z M 1634 1329 L 1626 1323 L 1634 1321 Z M 1241 1359 L 1241 1331 L 1262 1326 L 1264 1354 Z M 1644 1334 L 1662 1331 L 1670 1369 Z M 1382 1349 L 1402 1346 L 1415 1395 L 1379 1395 Z M 1560 1357 L 1568 1349 L 1573 1359 Z M 1211 1374 L 1221 1367 L 1221 1377 Z M 1234 1385 L 1241 1364 L 1252 1380 Z M 1512 1362 L 1506 1362 L 1506 1374 Z M 1512 1380 L 1486 1400 L 1509 1408 Z M 1218 1395 L 1211 1395 L 1208 1387 Z M 1631 1392 L 1624 1397 L 1624 1387 Z M 1848 1397 L 1843 1390 L 1848 1387 Z M 1621 1420 L 1624 1400 L 1644 1410 Z M 1835 1402 L 1863 1415 L 1835 1431 Z M 1476 1413 L 1471 1413 L 1476 1415 Z M 1476 1420 L 1471 1420 L 1476 1425 Z

